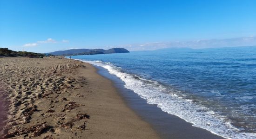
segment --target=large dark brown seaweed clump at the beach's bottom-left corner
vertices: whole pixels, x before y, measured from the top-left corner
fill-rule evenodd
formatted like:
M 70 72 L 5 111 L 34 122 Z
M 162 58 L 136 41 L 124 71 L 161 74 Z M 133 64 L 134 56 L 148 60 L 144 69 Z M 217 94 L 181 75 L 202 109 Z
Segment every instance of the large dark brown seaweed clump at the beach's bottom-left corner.
M 37 124 L 31 127 L 20 127 L 20 126 L 13 126 L 14 129 L 11 132 L 5 134 L 2 138 L 12 138 L 16 136 L 20 136 L 27 133 L 32 133 L 32 137 L 40 136 L 42 133 L 45 133 L 51 126 L 47 124 Z

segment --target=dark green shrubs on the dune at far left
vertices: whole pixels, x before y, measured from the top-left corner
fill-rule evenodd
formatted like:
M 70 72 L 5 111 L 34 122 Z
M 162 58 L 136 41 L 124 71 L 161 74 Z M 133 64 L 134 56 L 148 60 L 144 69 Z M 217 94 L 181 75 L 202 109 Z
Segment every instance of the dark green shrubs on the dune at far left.
M 0 48 L 0 57 L 44 57 L 44 54 L 27 52 L 27 51 L 12 51 L 8 48 Z

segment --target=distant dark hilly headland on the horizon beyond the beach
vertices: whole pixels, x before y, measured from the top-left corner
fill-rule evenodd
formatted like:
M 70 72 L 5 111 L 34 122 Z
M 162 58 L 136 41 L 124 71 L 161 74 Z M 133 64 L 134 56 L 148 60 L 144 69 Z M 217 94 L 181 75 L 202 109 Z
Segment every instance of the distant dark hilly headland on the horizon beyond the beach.
M 129 53 L 124 48 L 112 48 L 108 50 L 104 49 L 70 49 L 65 51 L 54 51 L 46 53 L 54 56 L 71 56 L 71 55 L 97 55 L 97 54 L 112 54 L 112 53 Z

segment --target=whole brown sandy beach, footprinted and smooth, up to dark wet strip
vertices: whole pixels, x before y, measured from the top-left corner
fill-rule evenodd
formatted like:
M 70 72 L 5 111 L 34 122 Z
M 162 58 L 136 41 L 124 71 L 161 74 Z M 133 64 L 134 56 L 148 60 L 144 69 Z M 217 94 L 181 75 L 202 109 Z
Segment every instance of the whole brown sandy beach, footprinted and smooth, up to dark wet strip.
M 0 58 L 1 90 L 8 103 L 5 138 L 159 138 L 88 63 Z

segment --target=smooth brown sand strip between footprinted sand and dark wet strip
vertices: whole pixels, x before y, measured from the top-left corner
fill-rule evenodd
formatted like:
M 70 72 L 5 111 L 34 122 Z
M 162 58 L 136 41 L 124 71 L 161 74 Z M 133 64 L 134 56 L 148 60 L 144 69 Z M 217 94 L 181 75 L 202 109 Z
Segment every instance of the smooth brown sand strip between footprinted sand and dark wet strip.
M 104 138 L 133 138 L 133 139 L 157 139 L 158 134 L 152 129 L 151 125 L 142 120 L 133 110 L 131 110 L 125 103 L 125 101 L 121 98 L 121 95 L 114 87 L 113 82 L 109 79 L 101 76 L 97 73 L 97 69 L 90 63 L 83 63 L 87 67 L 87 69 L 82 69 L 80 71 L 80 75 L 88 71 L 86 76 L 87 80 L 90 80 L 88 83 L 91 85 L 92 88 L 98 88 L 102 91 L 95 92 L 97 93 L 97 97 L 93 96 L 88 101 L 88 112 L 92 115 L 97 116 L 95 120 L 106 120 L 106 117 L 111 117 L 108 121 L 101 121 L 104 123 L 95 123 L 95 125 L 91 125 L 89 127 L 93 130 L 94 127 L 101 127 L 101 129 L 105 128 L 104 126 L 110 124 L 112 127 L 106 126 L 106 128 L 111 128 L 111 130 L 115 131 L 115 134 L 110 136 L 103 135 Z M 93 74 L 92 74 L 93 73 Z M 103 93 L 104 92 L 104 93 Z M 95 95 L 95 94 L 94 94 Z M 98 102 L 98 106 L 95 106 L 92 102 Z M 101 113 L 104 111 L 104 113 Z M 101 114 L 100 114 L 101 113 Z M 99 114 L 99 115 L 97 115 Z M 114 114 L 114 115 L 113 115 Z M 98 125 L 100 124 L 100 125 Z M 96 129 L 96 128 L 94 128 Z M 95 132 L 99 132 L 101 130 L 98 128 Z M 105 130 L 103 130 L 105 131 Z M 109 129 L 106 130 L 109 132 Z M 110 133 L 108 133 L 109 135 Z M 99 135 L 92 135 L 88 136 L 88 138 L 100 138 Z

